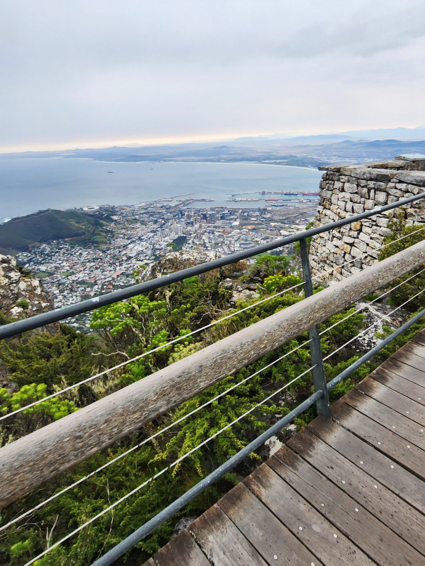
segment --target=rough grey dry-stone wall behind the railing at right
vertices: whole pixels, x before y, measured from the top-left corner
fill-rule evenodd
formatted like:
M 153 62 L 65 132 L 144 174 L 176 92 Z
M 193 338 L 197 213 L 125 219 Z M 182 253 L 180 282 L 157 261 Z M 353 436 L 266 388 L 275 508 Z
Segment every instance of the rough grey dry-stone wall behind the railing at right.
M 383 204 L 425 191 L 425 171 L 420 162 L 386 161 L 364 165 L 321 167 L 316 226 L 372 210 Z M 409 224 L 425 222 L 425 198 L 406 205 Z M 379 248 L 389 233 L 388 213 L 319 234 L 312 238 L 313 275 L 341 280 L 377 261 Z M 346 262 L 350 261 L 348 265 Z

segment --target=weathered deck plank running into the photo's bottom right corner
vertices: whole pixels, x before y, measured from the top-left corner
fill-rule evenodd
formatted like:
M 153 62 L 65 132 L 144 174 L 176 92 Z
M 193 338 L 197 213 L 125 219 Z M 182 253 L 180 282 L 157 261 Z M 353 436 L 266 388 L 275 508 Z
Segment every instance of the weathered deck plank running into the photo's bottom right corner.
M 320 472 L 286 446 L 267 460 L 285 482 L 323 514 L 377 564 L 420 564 L 424 556 L 397 537 L 367 508 L 351 499 Z M 391 554 L 388 548 L 392 548 Z

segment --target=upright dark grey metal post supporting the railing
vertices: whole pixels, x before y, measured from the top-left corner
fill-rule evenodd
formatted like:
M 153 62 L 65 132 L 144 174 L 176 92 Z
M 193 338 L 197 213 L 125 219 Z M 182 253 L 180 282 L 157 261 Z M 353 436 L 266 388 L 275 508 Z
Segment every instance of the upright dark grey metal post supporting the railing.
M 311 297 L 313 294 L 313 282 L 311 278 L 311 268 L 310 262 L 308 260 L 308 246 L 307 240 L 305 238 L 300 240 L 301 248 L 301 265 L 303 267 L 303 279 L 304 279 L 304 294 L 305 297 Z M 310 342 L 310 354 L 313 369 L 313 383 L 315 385 L 315 392 L 321 391 L 323 393 L 322 397 L 316 401 L 316 410 L 318 415 L 326 415 L 330 418 L 330 404 L 328 388 L 326 387 L 326 376 L 325 368 L 323 365 L 322 350 L 320 348 L 320 336 L 318 332 L 318 326 L 313 326 L 308 331 L 308 337 Z

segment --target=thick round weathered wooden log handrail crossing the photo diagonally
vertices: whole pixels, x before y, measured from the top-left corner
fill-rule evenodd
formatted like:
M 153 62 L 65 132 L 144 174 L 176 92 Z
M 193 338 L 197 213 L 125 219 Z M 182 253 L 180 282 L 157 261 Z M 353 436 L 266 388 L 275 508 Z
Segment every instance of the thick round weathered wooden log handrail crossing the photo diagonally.
M 425 262 L 425 241 L 0 449 L 0 507 Z

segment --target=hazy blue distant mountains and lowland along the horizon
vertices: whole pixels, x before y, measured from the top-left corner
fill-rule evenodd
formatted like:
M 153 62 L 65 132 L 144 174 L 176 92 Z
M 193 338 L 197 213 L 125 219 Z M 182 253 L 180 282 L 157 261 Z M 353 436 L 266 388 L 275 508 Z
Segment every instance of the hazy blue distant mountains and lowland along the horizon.
M 97 161 L 257 162 L 317 167 L 335 162 L 392 159 L 397 153 L 425 153 L 425 126 L 359 130 L 338 134 L 287 137 L 286 134 L 238 138 L 225 144 L 185 143 L 23 152 L 1 158 L 65 157 Z

